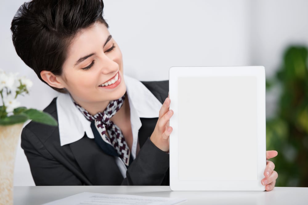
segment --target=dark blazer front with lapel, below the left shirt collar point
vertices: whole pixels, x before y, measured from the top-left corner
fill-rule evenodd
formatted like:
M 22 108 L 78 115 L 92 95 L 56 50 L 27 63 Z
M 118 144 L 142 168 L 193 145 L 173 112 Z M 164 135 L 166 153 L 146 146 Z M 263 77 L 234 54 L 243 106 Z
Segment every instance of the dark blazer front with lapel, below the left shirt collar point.
M 105 154 L 94 139 L 86 135 L 70 144 L 77 163 L 91 185 L 120 185 L 123 176 L 115 163 L 115 158 Z

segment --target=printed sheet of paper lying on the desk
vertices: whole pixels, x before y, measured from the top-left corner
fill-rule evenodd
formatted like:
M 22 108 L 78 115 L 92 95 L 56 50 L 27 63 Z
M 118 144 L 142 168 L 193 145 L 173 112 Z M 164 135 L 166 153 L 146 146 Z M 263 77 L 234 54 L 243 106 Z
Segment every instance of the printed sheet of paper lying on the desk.
M 42 205 L 171 205 L 186 199 L 83 192 Z

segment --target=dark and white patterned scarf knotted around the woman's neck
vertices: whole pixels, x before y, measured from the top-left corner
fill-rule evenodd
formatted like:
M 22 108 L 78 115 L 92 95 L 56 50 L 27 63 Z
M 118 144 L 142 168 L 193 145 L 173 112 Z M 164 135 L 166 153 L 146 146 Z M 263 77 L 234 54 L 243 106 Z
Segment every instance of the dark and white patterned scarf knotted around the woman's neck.
M 87 120 L 91 121 L 91 128 L 96 144 L 98 144 L 105 153 L 111 156 L 119 156 L 128 167 L 132 162 L 130 150 L 121 129 L 110 120 L 110 118 L 120 110 L 124 103 L 124 99 L 125 95 L 118 100 L 110 101 L 103 112 L 99 112 L 94 116 L 76 102 L 74 103 Z M 106 135 L 106 130 L 109 137 Z

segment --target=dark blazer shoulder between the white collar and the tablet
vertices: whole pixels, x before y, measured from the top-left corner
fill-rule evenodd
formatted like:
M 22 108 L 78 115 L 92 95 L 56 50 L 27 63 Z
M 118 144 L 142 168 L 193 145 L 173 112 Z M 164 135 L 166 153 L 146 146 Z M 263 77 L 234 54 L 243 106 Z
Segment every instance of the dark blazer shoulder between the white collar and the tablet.
M 169 81 L 141 81 L 141 83 L 163 104 L 168 97 Z

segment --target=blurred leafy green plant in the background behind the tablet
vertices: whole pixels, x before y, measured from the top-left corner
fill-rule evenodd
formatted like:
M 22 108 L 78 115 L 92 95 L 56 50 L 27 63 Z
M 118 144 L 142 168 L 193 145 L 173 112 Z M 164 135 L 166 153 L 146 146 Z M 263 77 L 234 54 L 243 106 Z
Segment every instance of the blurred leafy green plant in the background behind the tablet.
M 290 46 L 268 89 L 279 86 L 276 115 L 266 120 L 267 150 L 278 172 L 276 186 L 308 187 L 308 67 L 307 48 Z

